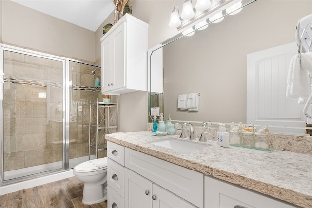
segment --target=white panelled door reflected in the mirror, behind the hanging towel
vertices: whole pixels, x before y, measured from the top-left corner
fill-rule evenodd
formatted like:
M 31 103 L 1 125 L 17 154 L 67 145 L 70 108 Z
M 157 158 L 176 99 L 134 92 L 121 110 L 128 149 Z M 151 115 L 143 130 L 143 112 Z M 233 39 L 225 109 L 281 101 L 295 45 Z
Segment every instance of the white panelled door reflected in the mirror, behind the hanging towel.
M 305 127 L 303 104 L 286 98 L 286 80 L 296 44 L 247 55 L 247 123 Z M 270 128 L 270 132 L 305 133 L 305 129 Z

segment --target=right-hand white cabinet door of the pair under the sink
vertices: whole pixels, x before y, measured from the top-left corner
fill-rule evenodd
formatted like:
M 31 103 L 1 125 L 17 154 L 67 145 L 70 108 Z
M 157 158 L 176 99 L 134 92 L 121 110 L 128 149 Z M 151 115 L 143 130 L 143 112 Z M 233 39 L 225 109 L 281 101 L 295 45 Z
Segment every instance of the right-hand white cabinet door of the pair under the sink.
M 195 205 L 157 184 L 153 184 L 152 199 L 153 208 L 197 208 Z

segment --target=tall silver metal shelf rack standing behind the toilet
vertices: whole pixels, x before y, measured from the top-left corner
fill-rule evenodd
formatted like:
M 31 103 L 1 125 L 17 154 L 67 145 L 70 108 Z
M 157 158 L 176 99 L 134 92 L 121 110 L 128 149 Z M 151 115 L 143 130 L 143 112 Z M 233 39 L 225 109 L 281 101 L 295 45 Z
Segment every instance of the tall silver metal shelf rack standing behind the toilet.
M 98 158 L 99 151 L 105 155 L 105 135 L 118 131 L 118 102 L 117 103 L 92 103 L 90 100 L 89 111 L 89 160 L 93 152 Z M 93 152 L 92 152 L 93 151 Z

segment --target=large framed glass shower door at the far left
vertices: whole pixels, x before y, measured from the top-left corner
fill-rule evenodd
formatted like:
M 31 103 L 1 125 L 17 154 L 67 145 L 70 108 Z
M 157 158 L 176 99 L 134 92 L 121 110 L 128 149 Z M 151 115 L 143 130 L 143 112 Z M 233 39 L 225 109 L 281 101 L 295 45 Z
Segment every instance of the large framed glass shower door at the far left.
M 4 181 L 64 169 L 65 60 L 2 51 Z

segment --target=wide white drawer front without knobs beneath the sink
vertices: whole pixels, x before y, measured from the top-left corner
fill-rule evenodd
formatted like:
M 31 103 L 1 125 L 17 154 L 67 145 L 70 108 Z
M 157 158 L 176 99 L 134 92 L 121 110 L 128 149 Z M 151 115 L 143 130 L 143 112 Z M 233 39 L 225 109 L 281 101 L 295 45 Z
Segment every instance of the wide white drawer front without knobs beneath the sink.
M 125 148 L 125 167 L 203 207 L 204 174 Z

